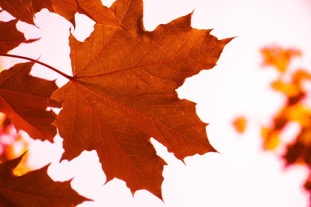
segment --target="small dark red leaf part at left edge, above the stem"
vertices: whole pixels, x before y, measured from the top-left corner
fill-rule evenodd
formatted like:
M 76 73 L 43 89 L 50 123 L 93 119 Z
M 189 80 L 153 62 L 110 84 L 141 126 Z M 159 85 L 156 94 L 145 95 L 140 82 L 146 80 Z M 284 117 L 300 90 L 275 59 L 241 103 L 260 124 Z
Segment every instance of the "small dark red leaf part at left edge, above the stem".
M 24 34 L 16 29 L 17 21 L 0 21 L 0 53 L 7 53 L 20 43 L 30 43 L 37 40 L 26 40 Z

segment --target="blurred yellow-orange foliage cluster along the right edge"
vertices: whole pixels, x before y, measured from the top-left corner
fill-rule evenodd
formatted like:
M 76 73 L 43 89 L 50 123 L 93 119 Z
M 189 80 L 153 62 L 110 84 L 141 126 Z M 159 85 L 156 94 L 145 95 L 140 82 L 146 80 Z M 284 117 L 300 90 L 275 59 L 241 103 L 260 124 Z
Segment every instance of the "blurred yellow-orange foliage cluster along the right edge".
M 300 125 L 300 132 L 294 142 L 287 144 L 283 158 L 287 165 L 304 164 L 311 169 L 311 109 L 304 103 L 305 97 L 311 95 L 304 88 L 304 83 L 311 80 L 311 74 L 305 69 L 297 69 L 293 74 L 289 71 L 291 60 L 302 53 L 297 49 L 283 49 L 279 46 L 265 47 L 261 53 L 263 64 L 279 71 L 279 76 L 271 84 L 272 89 L 286 96 L 286 102 L 273 118 L 272 125 L 261 129 L 263 147 L 267 150 L 277 148 L 282 143 L 280 134 L 285 126 L 296 122 Z M 305 188 L 311 193 L 311 173 Z

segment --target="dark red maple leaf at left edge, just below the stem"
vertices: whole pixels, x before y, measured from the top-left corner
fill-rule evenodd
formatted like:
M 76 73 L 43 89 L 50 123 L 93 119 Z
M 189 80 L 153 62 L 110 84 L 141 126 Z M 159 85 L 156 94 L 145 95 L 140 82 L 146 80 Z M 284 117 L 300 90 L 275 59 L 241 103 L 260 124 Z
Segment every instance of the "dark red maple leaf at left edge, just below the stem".
M 56 101 L 48 103 L 58 89 L 55 81 L 29 75 L 34 63 L 16 64 L 0 73 L 0 111 L 5 113 L 17 130 L 30 137 L 53 142 L 57 134 L 51 125 L 56 114 L 47 107 L 61 107 Z

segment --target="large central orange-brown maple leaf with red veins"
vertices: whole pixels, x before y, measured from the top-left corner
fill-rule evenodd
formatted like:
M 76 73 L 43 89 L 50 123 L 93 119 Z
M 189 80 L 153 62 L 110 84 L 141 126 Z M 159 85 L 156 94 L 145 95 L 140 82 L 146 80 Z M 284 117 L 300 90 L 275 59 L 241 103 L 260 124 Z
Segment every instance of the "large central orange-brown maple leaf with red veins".
M 165 162 L 150 138 L 180 160 L 216 152 L 196 104 L 175 90 L 213 68 L 232 38 L 192 28 L 192 13 L 145 31 L 142 0 L 117 0 L 110 9 L 128 31 L 95 24 L 83 43 L 70 37 L 74 77 L 51 97 L 63 103 L 54 122 L 62 159 L 95 149 L 107 182 L 119 178 L 133 194 L 147 189 L 161 199 Z

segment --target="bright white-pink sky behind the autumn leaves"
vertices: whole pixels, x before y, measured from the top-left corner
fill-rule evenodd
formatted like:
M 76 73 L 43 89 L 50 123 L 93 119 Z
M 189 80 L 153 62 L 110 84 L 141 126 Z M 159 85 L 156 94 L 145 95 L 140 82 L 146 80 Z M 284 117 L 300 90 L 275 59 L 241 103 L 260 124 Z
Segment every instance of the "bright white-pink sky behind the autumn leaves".
M 109 6 L 113 1 L 103 2 Z M 75 177 L 73 188 L 95 200 L 79 207 L 308 207 L 309 195 L 303 190 L 306 168 L 284 169 L 276 155 L 283 152 L 282 146 L 276 153 L 261 149 L 260 125 L 269 123 L 284 100 L 269 88 L 277 73 L 262 69 L 259 49 L 271 44 L 298 48 L 303 58 L 295 64 L 311 69 L 311 1 L 144 0 L 144 6 L 145 28 L 150 31 L 194 10 L 193 27 L 214 28 L 212 34 L 219 39 L 237 36 L 225 47 L 218 66 L 188 78 L 177 90 L 180 98 L 197 103 L 198 116 L 210 123 L 208 138 L 222 154 L 187 157 L 184 165 L 153 140 L 158 155 L 168 163 L 163 171 L 165 205 L 145 190 L 137 191 L 133 198 L 125 183 L 117 179 L 103 185 L 106 178 L 95 151 L 84 151 L 71 162 L 59 163 L 61 138 L 55 138 L 54 144 L 30 139 L 30 165 L 39 168 L 52 162 L 48 172 L 54 180 Z M 74 35 L 82 41 L 93 23 L 83 15 L 76 17 Z M 2 12 L 0 20 L 5 19 Z M 35 22 L 38 28 L 19 22 L 18 29 L 27 39 L 41 39 L 10 53 L 40 57 L 41 62 L 71 74 L 71 24 L 46 9 L 37 13 Z M 3 68 L 9 68 L 22 61 L 1 57 L 0 62 Z M 37 64 L 32 74 L 58 78 L 59 86 L 67 81 Z M 241 114 L 252 120 L 243 136 L 236 134 L 231 124 Z

